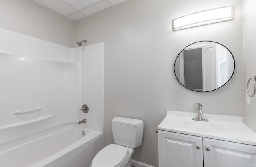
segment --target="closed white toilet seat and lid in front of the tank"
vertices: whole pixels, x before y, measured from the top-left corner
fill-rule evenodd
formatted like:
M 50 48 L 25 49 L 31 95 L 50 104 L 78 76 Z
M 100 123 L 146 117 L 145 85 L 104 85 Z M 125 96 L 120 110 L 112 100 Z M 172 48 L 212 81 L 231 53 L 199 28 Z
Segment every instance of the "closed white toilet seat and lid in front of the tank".
M 120 167 L 128 157 L 128 147 L 110 144 L 97 153 L 92 160 L 92 167 Z

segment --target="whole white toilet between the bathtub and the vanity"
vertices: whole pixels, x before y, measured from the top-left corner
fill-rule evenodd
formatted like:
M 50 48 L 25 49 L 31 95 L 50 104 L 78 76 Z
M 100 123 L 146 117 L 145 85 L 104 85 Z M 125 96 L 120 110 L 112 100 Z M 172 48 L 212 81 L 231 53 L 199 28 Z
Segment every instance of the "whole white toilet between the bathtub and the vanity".
M 104 147 L 92 160 L 91 167 L 131 167 L 134 148 L 142 142 L 143 121 L 123 117 L 112 119 L 114 143 Z

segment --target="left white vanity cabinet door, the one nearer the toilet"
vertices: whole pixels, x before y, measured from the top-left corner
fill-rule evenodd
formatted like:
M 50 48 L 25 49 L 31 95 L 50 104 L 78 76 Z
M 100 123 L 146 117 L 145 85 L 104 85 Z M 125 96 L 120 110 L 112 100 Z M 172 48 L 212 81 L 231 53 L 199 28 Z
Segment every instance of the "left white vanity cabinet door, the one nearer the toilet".
M 159 167 L 203 167 L 202 148 L 202 137 L 158 131 Z

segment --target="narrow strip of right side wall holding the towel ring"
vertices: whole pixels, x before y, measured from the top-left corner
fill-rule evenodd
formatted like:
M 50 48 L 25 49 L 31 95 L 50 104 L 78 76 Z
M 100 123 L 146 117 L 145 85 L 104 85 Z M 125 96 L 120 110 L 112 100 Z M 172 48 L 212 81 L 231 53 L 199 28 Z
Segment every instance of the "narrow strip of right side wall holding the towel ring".
M 244 81 L 245 86 L 249 78 L 256 75 L 256 1 L 243 0 L 243 45 L 244 45 Z M 250 94 L 253 91 L 252 81 L 250 83 Z M 245 87 L 246 89 L 246 87 Z M 256 96 L 250 98 L 250 105 L 245 105 L 245 121 L 256 131 Z

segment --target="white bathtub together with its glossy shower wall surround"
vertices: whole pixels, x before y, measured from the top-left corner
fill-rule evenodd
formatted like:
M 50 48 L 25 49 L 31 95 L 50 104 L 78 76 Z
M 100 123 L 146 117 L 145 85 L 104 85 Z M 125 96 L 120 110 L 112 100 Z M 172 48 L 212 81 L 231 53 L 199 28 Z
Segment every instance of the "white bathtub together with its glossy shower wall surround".
M 103 43 L 0 33 L 0 166 L 90 167 L 104 147 Z

